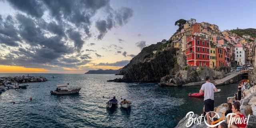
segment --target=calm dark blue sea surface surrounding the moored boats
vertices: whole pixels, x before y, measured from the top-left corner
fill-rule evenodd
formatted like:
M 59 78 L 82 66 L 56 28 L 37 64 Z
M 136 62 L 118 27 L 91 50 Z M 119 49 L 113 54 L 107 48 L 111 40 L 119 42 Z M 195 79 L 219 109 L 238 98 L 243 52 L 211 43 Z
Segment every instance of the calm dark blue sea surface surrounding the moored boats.
M 0 74 L 21 76 L 27 74 Z M 27 89 L 0 94 L 0 128 L 173 128 L 187 112 L 202 113 L 202 98 L 188 97 L 200 86 L 159 87 L 157 84 L 116 83 L 112 74 L 30 74 L 45 76 L 47 82 L 29 83 Z M 50 78 L 55 76 L 55 78 Z M 81 87 L 79 94 L 55 96 L 56 84 Z M 215 106 L 236 92 L 237 84 L 218 86 Z M 32 101 L 29 100 L 32 96 Z M 132 101 L 130 111 L 106 110 L 106 102 L 116 96 Z M 16 102 L 13 105 L 12 102 Z

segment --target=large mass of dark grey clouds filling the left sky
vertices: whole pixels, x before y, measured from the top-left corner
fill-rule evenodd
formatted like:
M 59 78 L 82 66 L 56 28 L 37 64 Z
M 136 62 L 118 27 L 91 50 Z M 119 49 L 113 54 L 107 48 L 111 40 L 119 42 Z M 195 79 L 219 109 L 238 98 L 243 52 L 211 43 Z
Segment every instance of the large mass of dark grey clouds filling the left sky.
M 0 1 L 3 2 L 3 1 Z M 92 59 L 83 49 L 96 36 L 103 39 L 113 27 L 126 24 L 133 15 L 130 8 L 114 10 L 109 0 L 6 0 L 18 13 L 0 15 L 0 64 L 36 68 L 84 65 Z M 107 11 L 99 11 L 107 10 Z M 97 12 L 106 17 L 93 20 Z M 92 27 L 92 25 L 96 28 Z M 91 32 L 92 29 L 98 33 Z M 119 41 L 122 41 L 119 40 Z M 95 43 L 87 44 L 93 46 Z M 111 45 L 116 50 L 120 46 Z M 8 51 L 7 51 L 8 50 Z M 7 52 L 5 52 L 7 51 Z M 95 53 L 97 57 L 102 55 Z

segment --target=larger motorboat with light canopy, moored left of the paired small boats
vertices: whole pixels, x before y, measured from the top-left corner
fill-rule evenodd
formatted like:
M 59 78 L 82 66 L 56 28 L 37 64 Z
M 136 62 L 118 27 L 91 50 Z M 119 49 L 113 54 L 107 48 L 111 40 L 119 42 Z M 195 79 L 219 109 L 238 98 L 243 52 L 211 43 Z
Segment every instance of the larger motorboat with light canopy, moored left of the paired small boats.
M 61 89 L 64 87 L 68 87 L 69 84 L 58 84 L 56 90 L 51 91 L 53 95 L 67 95 L 67 94 L 77 94 L 79 93 L 81 88 L 72 88 L 72 89 Z

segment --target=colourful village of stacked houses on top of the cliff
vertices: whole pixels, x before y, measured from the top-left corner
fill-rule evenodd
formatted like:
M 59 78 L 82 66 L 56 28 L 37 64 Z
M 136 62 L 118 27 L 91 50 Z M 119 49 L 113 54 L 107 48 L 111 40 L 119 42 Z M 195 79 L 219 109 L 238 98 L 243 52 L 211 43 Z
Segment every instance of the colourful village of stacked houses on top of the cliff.
M 254 66 L 256 39 L 249 35 L 239 36 L 229 30 L 196 19 L 178 20 L 179 29 L 170 40 L 178 48 L 178 60 L 185 58 L 188 66 Z M 178 61 L 181 65 L 182 61 Z

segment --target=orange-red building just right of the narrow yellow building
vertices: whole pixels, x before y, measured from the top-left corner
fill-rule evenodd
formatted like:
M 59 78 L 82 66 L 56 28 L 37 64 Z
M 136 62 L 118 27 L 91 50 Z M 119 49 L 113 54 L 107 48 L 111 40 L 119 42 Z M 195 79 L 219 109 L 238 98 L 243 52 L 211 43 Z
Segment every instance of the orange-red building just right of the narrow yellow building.
M 220 46 L 216 47 L 216 67 L 225 66 L 225 50 Z

